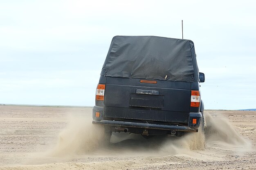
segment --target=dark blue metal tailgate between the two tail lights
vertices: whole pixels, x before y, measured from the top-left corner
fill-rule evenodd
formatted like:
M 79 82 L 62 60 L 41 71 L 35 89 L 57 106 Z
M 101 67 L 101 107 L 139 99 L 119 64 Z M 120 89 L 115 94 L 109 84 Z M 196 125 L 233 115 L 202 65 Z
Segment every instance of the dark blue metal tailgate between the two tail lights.
M 105 117 L 185 122 L 189 113 L 191 84 L 107 77 Z M 180 120 L 182 119 L 182 121 Z

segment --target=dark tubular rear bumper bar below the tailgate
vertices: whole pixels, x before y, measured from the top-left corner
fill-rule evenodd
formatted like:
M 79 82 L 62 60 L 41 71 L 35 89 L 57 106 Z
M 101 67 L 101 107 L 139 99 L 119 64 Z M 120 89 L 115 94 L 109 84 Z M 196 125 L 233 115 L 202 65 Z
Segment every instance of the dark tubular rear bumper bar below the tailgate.
M 101 121 L 92 121 L 92 124 L 103 124 L 108 126 L 122 126 L 122 127 L 145 128 L 145 129 L 175 130 L 175 131 L 184 131 L 184 132 L 198 132 L 198 129 L 190 128 L 188 126 L 146 124 L 146 123 L 137 123 L 137 122 L 129 122 L 129 121 L 101 120 Z

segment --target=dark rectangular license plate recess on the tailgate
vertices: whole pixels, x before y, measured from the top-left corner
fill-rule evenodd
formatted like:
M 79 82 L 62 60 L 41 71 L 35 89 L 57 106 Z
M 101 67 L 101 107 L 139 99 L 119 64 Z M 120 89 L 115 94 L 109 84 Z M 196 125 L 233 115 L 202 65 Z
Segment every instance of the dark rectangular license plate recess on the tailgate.
M 130 106 L 148 107 L 148 108 L 163 108 L 164 107 L 164 96 L 132 94 L 130 96 Z

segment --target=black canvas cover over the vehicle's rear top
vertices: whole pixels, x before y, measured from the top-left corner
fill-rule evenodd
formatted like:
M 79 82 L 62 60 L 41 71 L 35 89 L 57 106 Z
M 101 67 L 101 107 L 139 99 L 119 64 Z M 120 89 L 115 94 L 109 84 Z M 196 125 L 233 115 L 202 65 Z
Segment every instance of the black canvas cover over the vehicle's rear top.
M 115 36 L 101 75 L 198 82 L 195 57 L 191 40 L 156 36 Z

